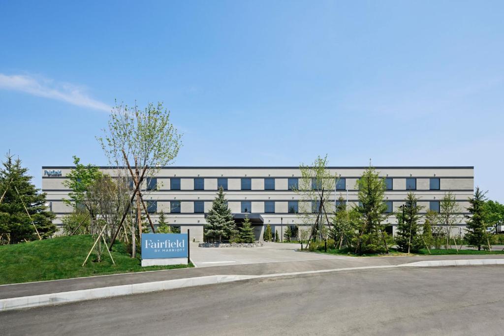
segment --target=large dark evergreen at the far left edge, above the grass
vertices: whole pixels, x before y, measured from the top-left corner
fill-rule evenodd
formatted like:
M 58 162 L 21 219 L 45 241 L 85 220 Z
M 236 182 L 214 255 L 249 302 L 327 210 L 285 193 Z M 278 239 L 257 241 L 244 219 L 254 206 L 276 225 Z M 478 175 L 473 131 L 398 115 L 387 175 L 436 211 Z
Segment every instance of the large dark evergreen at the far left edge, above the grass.
M 0 204 L 0 235 L 8 236 L 10 243 L 38 239 L 37 231 L 41 238 L 49 238 L 56 232 L 56 226 L 52 224 L 54 214 L 45 206 L 45 193 L 40 193 L 31 183 L 32 176 L 27 175 L 28 168 L 21 166 L 19 158 L 13 160 L 8 154 L 2 164 L 0 194 L 5 191 L 5 196 Z

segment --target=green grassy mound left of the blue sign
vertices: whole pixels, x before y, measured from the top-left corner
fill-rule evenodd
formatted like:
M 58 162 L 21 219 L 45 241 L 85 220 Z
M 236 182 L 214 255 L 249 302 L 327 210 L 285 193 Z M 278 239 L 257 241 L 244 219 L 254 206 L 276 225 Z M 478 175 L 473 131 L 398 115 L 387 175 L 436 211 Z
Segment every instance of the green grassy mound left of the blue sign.
M 126 246 L 120 242 L 116 242 L 112 247 L 115 265 L 104 250 L 101 262 L 93 262 L 96 255 L 92 253 L 86 265 L 82 267 L 93 243 L 90 235 L 83 235 L 2 245 L 0 285 L 193 267 L 192 264 L 142 267 L 140 255 L 132 259 L 126 251 Z

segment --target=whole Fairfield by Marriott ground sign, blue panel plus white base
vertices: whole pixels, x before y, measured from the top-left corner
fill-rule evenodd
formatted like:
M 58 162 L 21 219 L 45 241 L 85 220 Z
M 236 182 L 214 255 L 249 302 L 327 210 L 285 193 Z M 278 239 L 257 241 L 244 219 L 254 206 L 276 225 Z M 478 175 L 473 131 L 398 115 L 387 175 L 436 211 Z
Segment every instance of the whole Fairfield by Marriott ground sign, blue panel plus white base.
M 187 264 L 186 233 L 142 234 L 142 266 Z

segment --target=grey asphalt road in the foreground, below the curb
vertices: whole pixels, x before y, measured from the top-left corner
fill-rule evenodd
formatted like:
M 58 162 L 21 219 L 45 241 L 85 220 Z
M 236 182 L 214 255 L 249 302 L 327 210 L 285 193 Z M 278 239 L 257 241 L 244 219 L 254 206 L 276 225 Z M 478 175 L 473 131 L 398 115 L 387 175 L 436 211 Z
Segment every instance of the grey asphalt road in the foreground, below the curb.
M 2 334 L 502 334 L 502 266 L 247 280 L 0 313 Z

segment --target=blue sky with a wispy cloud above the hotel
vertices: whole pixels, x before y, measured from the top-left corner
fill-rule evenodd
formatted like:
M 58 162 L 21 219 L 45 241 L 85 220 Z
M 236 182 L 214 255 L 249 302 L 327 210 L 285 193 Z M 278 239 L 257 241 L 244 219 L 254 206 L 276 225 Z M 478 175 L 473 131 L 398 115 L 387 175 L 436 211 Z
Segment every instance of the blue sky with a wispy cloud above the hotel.
M 475 166 L 504 201 L 504 2 L 0 2 L 0 149 L 107 164 L 114 99 L 163 101 L 175 165 Z

